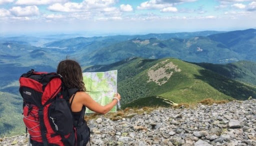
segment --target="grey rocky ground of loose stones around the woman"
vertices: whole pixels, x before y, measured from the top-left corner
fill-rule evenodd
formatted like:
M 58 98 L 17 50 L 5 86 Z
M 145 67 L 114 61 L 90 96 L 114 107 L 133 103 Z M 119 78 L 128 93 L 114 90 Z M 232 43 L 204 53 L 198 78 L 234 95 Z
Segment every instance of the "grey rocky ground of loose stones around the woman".
M 91 145 L 256 146 L 255 99 L 131 115 L 117 121 L 103 115 L 89 120 Z M 0 145 L 26 146 L 27 138 L 1 138 Z

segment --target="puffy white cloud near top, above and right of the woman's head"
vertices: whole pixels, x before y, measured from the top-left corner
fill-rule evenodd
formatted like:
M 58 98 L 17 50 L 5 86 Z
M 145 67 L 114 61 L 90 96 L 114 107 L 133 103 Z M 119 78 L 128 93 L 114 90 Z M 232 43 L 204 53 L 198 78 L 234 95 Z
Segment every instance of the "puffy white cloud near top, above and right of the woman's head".
M 64 4 L 54 3 L 48 6 L 48 9 L 51 11 L 75 12 L 75 11 L 81 11 L 82 7 L 83 5 L 81 3 L 66 2 Z

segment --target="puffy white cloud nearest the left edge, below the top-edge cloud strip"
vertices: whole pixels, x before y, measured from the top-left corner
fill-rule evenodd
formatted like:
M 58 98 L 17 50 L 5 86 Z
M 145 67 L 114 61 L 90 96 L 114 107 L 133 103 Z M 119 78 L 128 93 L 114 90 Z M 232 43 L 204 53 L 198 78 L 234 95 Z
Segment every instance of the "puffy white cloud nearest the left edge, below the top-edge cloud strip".
M 39 9 L 35 5 L 25 7 L 13 6 L 9 11 L 15 16 L 33 16 L 39 14 Z

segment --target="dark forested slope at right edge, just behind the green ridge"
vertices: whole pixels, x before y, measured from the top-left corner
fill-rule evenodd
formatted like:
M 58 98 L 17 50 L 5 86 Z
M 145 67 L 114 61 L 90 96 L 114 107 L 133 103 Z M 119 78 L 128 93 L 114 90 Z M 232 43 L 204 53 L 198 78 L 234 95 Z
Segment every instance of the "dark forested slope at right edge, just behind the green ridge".
M 228 64 L 195 63 L 203 68 L 221 74 L 227 78 L 256 85 L 256 63 L 238 61 Z

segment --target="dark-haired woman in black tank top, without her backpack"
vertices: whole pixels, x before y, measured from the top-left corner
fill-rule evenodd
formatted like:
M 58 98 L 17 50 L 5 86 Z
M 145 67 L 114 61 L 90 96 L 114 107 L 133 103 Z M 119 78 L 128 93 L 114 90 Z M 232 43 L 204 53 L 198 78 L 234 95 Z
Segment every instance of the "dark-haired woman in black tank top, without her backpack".
M 121 99 L 118 93 L 115 94 L 112 102 L 105 106 L 99 105 L 87 93 L 82 79 L 82 71 L 80 65 L 73 60 L 63 60 L 59 62 L 57 73 L 63 77 L 65 86 L 69 89 L 78 89 L 76 93 L 71 95 L 69 102 L 74 119 L 74 126 L 77 133 L 77 146 L 85 146 L 89 141 L 89 133 L 86 122 L 84 121 L 85 107 L 99 114 L 109 112 L 113 106 Z

